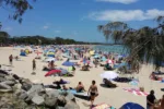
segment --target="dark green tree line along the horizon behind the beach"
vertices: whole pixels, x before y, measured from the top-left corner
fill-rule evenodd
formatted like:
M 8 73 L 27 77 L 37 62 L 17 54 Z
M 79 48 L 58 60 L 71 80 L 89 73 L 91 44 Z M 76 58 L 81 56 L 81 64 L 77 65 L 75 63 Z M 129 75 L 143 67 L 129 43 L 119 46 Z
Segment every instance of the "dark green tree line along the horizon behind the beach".
M 0 44 L 1 45 L 102 45 L 101 43 L 86 43 L 86 41 L 77 41 L 70 38 L 54 37 L 48 38 L 44 36 L 13 36 L 11 37 L 7 32 L 0 32 Z

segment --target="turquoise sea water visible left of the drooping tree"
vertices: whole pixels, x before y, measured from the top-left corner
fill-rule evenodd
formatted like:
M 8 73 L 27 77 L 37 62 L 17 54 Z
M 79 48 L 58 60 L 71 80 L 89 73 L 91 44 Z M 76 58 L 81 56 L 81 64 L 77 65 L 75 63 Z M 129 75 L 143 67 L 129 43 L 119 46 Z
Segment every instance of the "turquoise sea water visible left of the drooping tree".
M 113 45 L 113 46 L 104 46 L 104 45 L 98 45 L 94 47 L 95 50 L 102 50 L 106 52 L 114 52 L 114 53 L 121 53 L 121 55 L 127 55 L 128 50 L 121 45 Z

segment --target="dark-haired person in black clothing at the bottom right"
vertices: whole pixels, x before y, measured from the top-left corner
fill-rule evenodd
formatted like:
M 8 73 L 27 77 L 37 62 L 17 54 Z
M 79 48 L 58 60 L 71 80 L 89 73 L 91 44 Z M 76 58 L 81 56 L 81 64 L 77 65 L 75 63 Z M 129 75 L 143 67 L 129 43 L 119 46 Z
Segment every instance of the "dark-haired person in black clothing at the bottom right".
M 155 99 L 156 98 L 154 96 L 154 90 L 151 90 L 150 94 L 147 96 L 147 109 L 153 108 Z

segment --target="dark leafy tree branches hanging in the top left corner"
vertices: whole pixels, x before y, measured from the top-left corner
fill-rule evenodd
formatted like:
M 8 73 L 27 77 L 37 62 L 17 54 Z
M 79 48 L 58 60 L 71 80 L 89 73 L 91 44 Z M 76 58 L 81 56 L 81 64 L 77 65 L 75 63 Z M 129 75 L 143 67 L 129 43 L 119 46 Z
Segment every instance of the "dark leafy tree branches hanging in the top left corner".
M 12 14 L 9 15 L 9 19 L 16 20 L 19 23 L 22 23 L 22 15 L 27 10 L 33 9 L 30 1 L 36 0 L 0 0 L 0 8 L 4 10 L 12 9 Z

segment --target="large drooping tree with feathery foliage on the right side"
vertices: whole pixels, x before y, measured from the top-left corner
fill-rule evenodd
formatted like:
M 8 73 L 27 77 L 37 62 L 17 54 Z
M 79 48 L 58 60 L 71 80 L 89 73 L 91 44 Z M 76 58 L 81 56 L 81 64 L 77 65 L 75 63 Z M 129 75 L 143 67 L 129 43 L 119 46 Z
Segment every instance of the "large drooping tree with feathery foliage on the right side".
M 156 69 L 164 62 L 164 16 L 156 19 L 157 26 L 133 29 L 121 22 L 98 26 L 98 29 L 115 41 L 121 41 L 129 49 L 132 68 L 139 69 L 142 61 L 153 62 Z M 109 33 L 109 34 L 106 34 Z

